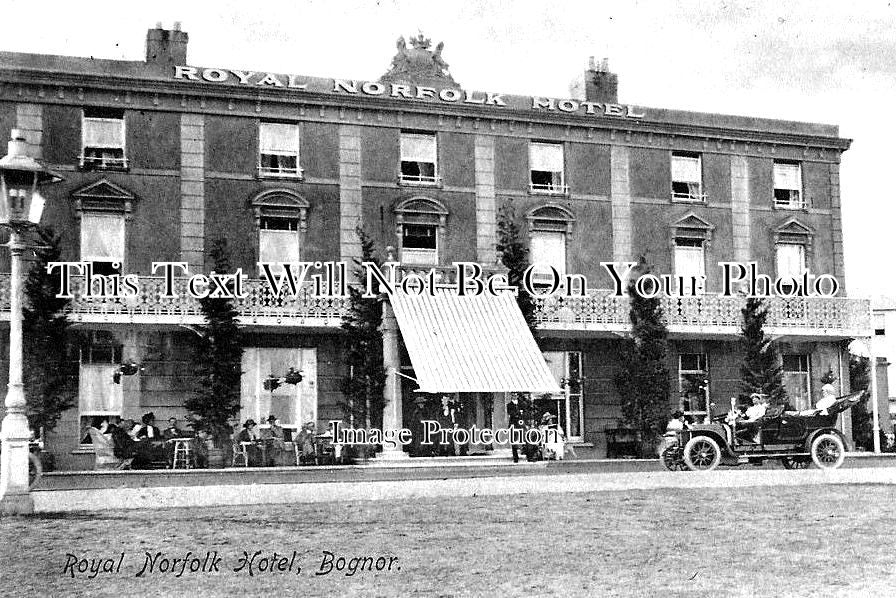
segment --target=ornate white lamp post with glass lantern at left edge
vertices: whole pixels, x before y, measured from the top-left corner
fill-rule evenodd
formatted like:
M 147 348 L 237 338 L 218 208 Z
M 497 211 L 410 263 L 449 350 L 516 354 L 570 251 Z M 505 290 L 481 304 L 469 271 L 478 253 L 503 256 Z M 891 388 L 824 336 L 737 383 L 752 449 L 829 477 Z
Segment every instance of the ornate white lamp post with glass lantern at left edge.
M 0 427 L 0 512 L 34 511 L 28 493 L 28 418 L 22 385 L 22 233 L 40 222 L 44 198 L 37 188 L 62 177 L 26 154 L 21 131 L 12 130 L 7 154 L 0 158 L 0 225 L 9 229 L 9 390 L 6 415 Z

